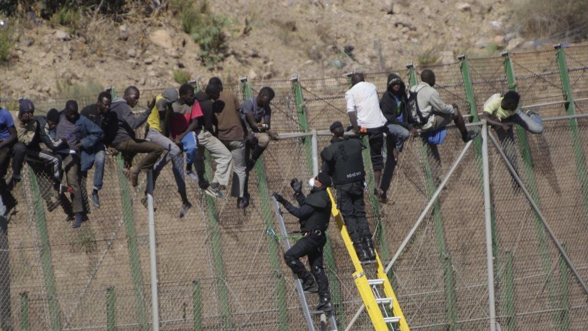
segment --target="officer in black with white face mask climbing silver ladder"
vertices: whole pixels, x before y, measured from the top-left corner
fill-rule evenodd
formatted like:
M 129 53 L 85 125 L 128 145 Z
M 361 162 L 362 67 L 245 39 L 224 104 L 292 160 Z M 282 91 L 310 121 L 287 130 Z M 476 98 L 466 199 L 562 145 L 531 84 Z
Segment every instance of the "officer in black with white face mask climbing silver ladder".
M 319 173 L 316 177 L 310 178 L 309 184 L 311 190 L 305 197 L 302 194 L 302 183 L 296 178 L 290 182 L 300 207 L 292 206 L 278 193 L 274 192 L 273 197 L 283 204 L 290 214 L 298 217 L 300 232 L 304 235 L 284 253 L 284 260 L 298 279 L 302 280 L 305 293 L 319 293 L 319 305 L 316 310 L 329 312 L 333 310 L 333 305 L 330 302 L 329 279 L 323 269 L 323 246 L 326 243 L 325 233 L 331 214 L 330 198 L 326 191 L 331 180 L 328 174 Z M 312 276 L 299 260 L 303 256 L 308 256 Z

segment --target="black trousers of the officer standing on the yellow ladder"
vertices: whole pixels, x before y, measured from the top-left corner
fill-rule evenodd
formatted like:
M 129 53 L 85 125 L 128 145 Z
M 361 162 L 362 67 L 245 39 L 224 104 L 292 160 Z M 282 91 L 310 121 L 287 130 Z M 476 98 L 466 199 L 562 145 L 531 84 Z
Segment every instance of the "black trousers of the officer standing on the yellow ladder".
M 361 243 L 363 238 L 372 236 L 363 202 L 363 181 L 337 185 L 337 208 L 343 215 L 353 243 Z

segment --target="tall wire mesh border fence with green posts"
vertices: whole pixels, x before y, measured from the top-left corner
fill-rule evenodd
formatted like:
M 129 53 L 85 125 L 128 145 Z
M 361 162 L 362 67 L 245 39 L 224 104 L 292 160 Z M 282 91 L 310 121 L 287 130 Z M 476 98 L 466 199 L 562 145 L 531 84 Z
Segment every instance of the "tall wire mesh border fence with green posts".
M 370 229 L 410 328 L 487 330 L 496 320 L 500 330 L 585 329 L 588 294 L 579 279 L 588 279 L 588 46 L 460 57 L 428 68 L 442 99 L 459 105 L 469 125 L 480 125 L 490 95 L 518 90 L 522 108 L 539 113 L 545 129 L 532 135 L 516 127 L 515 139 L 499 144 L 515 155 L 510 161 L 518 176 L 492 139 L 477 137 L 465 151 L 454 130 L 439 146 L 406 142 L 387 204 L 377 203 L 368 171 Z M 422 69 L 392 72 L 412 85 Z M 385 90 L 387 72 L 365 76 Z M 224 82 L 241 100 L 265 85 L 276 92 L 272 128 L 281 138 L 250 173 L 245 211 L 235 198 L 215 200 L 186 178 L 193 207 L 180 219 L 171 165 L 159 176 L 153 190 L 156 277 L 148 208 L 140 202 L 145 176 L 131 187 L 125 161 L 109 157 L 101 207 L 91 208 L 89 221 L 74 230 L 61 208 L 49 211 L 45 201 L 62 197 L 54 196 L 45 170 L 29 164 L 14 190 L 15 213 L 0 224 L 0 328 L 147 330 L 157 301 L 162 330 L 306 330 L 270 195 L 288 193 L 293 177 L 312 176 L 316 151 L 329 144 L 325 130 L 335 120 L 348 122 L 349 79 Z M 141 91 L 141 104 L 159 92 Z M 39 111 L 65 104 L 34 102 Z M 80 107 L 92 102 L 93 96 L 78 100 Z M 15 104 L 5 102 L 10 110 Z M 369 152 L 364 161 L 370 170 Z M 210 157 L 206 167 L 210 176 Z M 292 216 L 285 221 L 298 227 Z M 332 224 L 325 268 L 339 329 L 372 329 Z

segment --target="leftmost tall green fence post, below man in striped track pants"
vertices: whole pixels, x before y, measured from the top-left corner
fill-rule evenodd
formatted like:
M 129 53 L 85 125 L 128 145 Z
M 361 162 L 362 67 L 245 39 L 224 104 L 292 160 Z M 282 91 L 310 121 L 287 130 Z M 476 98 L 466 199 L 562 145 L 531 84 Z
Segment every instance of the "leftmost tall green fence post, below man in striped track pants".
M 45 220 L 45 209 L 43 207 L 43 200 L 41 198 L 35 172 L 30 167 L 29 176 L 31 176 L 31 189 L 35 199 L 34 208 L 36 227 L 39 233 L 39 239 L 41 240 L 41 263 L 43 265 L 43 274 L 45 277 L 47 300 L 49 301 L 49 317 L 51 317 L 50 327 L 52 330 L 61 330 L 61 312 L 59 312 L 59 302 L 57 301 L 55 274 L 53 263 L 51 262 L 51 246 L 49 245 L 49 233 Z

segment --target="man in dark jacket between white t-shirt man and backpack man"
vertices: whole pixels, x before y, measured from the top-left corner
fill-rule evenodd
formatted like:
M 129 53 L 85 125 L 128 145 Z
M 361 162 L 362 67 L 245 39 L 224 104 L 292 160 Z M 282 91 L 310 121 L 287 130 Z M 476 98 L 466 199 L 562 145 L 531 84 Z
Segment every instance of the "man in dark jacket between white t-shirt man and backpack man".
M 399 75 L 389 74 L 387 89 L 380 99 L 380 110 L 386 117 L 386 166 L 382 174 L 380 187 L 376 188 L 376 197 L 380 203 L 386 203 L 386 191 L 390 187 L 398 153 L 402 152 L 405 141 L 410 137 L 414 120 L 412 112 L 407 111 L 408 97 L 406 85 Z

